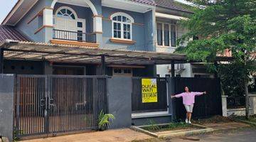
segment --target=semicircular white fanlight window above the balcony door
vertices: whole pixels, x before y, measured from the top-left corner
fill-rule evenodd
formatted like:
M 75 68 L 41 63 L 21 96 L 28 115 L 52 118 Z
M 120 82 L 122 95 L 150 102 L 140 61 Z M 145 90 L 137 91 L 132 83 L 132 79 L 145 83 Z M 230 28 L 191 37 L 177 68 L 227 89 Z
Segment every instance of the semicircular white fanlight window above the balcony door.
M 78 18 L 75 11 L 66 6 L 60 7 L 56 11 L 56 16 L 61 17 L 61 18 L 70 18 L 73 20 Z

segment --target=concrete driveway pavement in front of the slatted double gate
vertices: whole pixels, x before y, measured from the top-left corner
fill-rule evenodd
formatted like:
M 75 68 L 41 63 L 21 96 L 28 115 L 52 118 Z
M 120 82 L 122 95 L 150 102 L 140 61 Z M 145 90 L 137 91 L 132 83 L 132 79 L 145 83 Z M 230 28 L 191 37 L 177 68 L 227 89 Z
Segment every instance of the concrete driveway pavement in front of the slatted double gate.
M 128 142 L 152 138 L 144 133 L 132 131 L 131 129 L 117 129 L 110 131 L 97 131 L 92 133 L 80 133 L 53 138 L 39 138 L 22 142 Z

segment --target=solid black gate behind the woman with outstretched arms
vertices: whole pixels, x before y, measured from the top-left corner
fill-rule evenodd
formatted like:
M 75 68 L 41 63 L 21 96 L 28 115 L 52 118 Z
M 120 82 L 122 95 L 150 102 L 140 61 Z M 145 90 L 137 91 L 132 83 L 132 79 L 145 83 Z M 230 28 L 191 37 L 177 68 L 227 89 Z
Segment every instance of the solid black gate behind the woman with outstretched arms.
M 197 96 L 193 109 L 193 118 L 207 118 L 209 116 L 222 115 L 222 103 L 220 92 L 220 80 L 211 78 L 186 78 L 176 77 L 175 92 L 184 92 L 188 87 L 191 92 L 208 92 L 206 95 Z M 182 98 L 176 98 L 176 118 L 185 119 L 186 110 L 183 107 Z

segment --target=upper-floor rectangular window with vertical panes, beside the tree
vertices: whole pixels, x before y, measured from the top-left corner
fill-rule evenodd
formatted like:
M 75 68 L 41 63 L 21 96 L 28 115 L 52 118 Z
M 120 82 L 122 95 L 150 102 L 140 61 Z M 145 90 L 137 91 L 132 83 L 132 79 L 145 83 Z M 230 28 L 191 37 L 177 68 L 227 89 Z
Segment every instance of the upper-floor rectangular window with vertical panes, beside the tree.
M 176 25 L 157 23 L 157 45 L 176 47 Z

